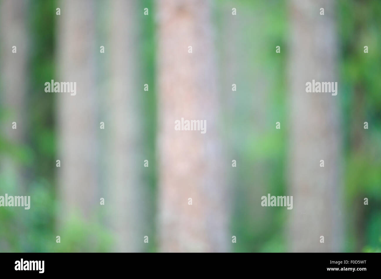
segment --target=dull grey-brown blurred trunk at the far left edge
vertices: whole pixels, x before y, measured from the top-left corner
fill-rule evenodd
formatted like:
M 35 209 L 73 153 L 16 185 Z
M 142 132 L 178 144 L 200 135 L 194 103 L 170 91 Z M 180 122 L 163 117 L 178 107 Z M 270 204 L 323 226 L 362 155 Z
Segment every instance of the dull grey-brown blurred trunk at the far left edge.
M 2 95 L 1 106 L 5 112 L 2 117 L 2 130 L 6 142 L 11 145 L 25 143 L 27 131 L 26 91 L 27 91 L 27 54 L 28 36 L 26 32 L 28 1 L 3 0 L 0 15 L 1 43 L 1 77 Z M 16 53 L 13 53 L 16 46 Z M 12 122 L 17 128 L 12 129 Z M 7 148 L 8 149 L 8 148 Z M 9 148 L 10 150 L 11 148 Z M 14 158 L 2 158 L 1 169 L 15 178 L 14 194 L 23 195 L 24 170 Z M 22 192 L 19 192 L 22 190 Z

